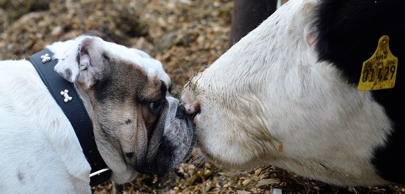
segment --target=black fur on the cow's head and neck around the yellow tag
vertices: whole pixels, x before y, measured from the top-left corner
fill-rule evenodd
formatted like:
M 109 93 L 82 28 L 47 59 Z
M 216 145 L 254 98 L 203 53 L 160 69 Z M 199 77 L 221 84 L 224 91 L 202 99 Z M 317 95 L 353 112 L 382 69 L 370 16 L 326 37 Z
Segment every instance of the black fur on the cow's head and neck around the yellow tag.
M 358 83 L 363 62 L 373 55 L 379 38 L 389 36 L 390 50 L 398 58 L 395 87 L 372 94 L 385 107 L 393 132 L 384 147 L 375 148 L 372 163 L 379 176 L 401 184 L 405 183 L 404 8 L 403 0 L 324 0 L 318 5 L 314 20 L 319 60 L 338 66 L 351 83 Z

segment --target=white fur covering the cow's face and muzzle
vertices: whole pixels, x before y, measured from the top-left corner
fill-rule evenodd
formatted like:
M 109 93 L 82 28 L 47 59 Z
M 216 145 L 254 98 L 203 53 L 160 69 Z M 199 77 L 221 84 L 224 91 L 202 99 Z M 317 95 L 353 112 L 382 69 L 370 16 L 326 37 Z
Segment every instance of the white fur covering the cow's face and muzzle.
M 290 0 L 185 87 L 188 113 L 201 110 L 197 144 L 226 168 L 271 164 L 337 185 L 385 184 L 370 160 L 391 122 L 370 92 L 317 61 L 314 3 Z

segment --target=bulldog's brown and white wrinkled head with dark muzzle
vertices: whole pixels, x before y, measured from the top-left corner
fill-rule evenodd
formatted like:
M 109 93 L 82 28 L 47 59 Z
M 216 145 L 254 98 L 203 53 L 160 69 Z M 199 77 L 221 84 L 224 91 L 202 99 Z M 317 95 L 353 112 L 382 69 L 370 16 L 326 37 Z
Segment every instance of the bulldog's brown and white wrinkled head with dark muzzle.
M 48 48 L 59 60 L 55 71 L 82 97 L 111 180 L 163 174 L 188 157 L 193 130 L 184 107 L 170 95 L 170 78 L 159 61 L 89 36 Z

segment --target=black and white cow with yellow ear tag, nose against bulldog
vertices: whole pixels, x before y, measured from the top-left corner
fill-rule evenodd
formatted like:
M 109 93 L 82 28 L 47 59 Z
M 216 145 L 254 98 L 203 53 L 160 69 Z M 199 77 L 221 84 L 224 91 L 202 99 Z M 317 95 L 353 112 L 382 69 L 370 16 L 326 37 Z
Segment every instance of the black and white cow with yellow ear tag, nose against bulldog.
M 184 87 L 200 155 L 342 186 L 404 184 L 404 6 L 281 6 Z M 393 88 L 374 90 L 382 81 Z

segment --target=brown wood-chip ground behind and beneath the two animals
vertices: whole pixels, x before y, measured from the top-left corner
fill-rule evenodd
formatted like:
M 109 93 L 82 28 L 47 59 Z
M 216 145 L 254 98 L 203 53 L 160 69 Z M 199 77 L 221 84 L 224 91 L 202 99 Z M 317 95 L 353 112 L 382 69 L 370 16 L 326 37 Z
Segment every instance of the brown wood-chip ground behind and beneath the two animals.
M 177 95 L 187 78 L 226 51 L 232 6 L 231 0 L 0 0 L 0 59 L 23 59 L 54 41 L 99 30 L 162 61 Z M 107 181 L 93 192 L 405 193 L 403 185 L 336 187 L 273 167 L 222 171 L 199 159 L 189 162 L 154 184 L 153 177 L 140 175 L 123 185 Z

